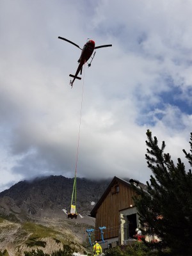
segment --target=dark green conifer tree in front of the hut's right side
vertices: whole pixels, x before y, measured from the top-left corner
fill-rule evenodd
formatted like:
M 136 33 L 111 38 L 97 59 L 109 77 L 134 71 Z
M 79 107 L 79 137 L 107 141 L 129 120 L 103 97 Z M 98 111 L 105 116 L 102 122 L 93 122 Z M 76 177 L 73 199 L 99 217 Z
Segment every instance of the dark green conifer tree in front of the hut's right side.
M 183 150 L 192 166 L 192 133 L 190 153 Z M 134 188 L 141 195 L 134 198 L 143 233 L 156 235 L 162 246 L 168 246 L 175 255 L 192 252 L 192 175 L 186 172 L 178 158 L 177 165 L 170 154 L 164 153 L 165 143 L 158 146 L 157 138 L 147 130 L 148 168 L 152 170 L 147 191 Z

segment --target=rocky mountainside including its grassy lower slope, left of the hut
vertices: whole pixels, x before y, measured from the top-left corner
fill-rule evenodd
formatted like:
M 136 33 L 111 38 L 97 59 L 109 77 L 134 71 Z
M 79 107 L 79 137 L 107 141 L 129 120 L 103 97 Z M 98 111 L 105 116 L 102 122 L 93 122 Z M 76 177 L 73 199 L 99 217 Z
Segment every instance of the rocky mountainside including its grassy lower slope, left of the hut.
M 23 256 L 32 249 L 50 253 L 69 244 L 83 252 L 88 246 L 88 216 L 109 180 L 77 178 L 77 219 L 67 218 L 74 179 L 50 176 L 24 180 L 0 193 L 0 254 Z M 83 217 L 83 218 L 81 218 Z M 84 246 L 84 247 L 83 247 Z

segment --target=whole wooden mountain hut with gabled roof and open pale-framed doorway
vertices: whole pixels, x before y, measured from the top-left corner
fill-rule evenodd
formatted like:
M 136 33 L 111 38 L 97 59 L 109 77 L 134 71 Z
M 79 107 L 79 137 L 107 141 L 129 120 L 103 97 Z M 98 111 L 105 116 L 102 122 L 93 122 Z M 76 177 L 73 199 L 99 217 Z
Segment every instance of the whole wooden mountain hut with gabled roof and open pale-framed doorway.
M 95 218 L 95 240 L 102 243 L 99 227 L 106 227 L 103 236 L 109 245 L 127 244 L 132 239 L 136 228 L 140 227 L 138 211 L 132 200 L 135 195 L 136 192 L 128 181 L 113 178 L 91 212 L 91 216 Z

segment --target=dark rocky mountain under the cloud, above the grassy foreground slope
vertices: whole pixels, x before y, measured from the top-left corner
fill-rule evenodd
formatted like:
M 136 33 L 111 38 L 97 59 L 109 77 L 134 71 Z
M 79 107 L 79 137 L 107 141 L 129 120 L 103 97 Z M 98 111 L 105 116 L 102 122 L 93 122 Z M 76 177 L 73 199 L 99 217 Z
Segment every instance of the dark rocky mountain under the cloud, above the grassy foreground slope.
M 86 216 L 111 180 L 77 178 L 77 212 Z M 74 179 L 63 176 L 20 181 L 0 193 L 0 214 L 13 212 L 18 218 L 62 217 L 70 209 Z

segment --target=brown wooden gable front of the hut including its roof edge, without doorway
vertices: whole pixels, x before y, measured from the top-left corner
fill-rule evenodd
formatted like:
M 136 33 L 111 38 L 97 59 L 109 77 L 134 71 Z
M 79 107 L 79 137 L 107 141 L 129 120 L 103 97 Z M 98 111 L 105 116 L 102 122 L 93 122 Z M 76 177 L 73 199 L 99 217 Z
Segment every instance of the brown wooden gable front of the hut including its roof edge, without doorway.
M 120 227 L 120 212 L 134 207 L 132 196 L 136 195 L 131 184 L 124 179 L 114 177 L 99 202 L 93 207 L 91 216 L 96 218 L 95 229 L 106 227 L 104 239 L 118 237 Z M 100 240 L 99 232 L 95 239 Z

